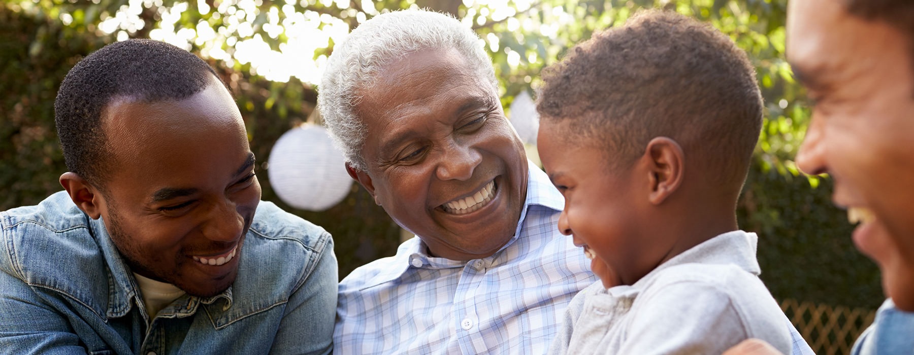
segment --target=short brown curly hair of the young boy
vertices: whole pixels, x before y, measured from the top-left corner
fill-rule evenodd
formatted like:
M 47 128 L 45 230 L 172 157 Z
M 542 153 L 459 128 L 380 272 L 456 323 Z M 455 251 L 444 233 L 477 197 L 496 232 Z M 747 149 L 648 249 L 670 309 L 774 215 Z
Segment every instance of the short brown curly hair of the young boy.
M 570 49 L 542 77 L 542 120 L 566 124 L 569 142 L 606 148 L 607 166 L 630 166 L 664 136 L 720 183 L 745 181 L 761 94 L 746 53 L 713 27 L 674 12 L 638 12 Z

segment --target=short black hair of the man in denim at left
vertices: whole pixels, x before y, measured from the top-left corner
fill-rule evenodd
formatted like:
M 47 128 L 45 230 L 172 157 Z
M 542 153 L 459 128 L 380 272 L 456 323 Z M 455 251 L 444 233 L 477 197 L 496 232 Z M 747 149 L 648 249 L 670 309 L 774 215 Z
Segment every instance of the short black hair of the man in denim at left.
M 186 99 L 206 89 L 213 76 L 218 78 L 199 57 L 151 39 L 112 43 L 83 58 L 69 70 L 54 101 L 67 169 L 103 191 L 113 155 L 101 115 L 112 99 Z

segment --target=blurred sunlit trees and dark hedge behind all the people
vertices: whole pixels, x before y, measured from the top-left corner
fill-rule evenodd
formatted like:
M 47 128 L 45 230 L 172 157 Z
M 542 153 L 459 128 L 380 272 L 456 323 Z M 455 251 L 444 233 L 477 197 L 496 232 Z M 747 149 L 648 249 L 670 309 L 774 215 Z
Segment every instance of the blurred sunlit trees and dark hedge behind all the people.
M 775 298 L 877 308 L 874 263 L 854 249 L 827 178 L 792 157 L 808 102 L 784 60 L 786 0 L 3 0 L 0 3 L 0 210 L 37 204 L 66 171 L 54 131 L 60 80 L 81 57 L 117 40 L 151 37 L 204 57 L 228 82 L 258 157 L 263 199 L 323 225 L 340 277 L 399 244 L 399 228 L 356 184 L 324 212 L 296 210 L 270 186 L 273 143 L 308 118 L 334 44 L 365 19 L 429 7 L 461 18 L 484 40 L 507 109 L 533 93 L 540 69 L 594 30 L 638 8 L 666 8 L 716 26 L 749 53 L 766 102 L 755 163 L 739 203 L 740 226 L 759 232 L 761 277 Z M 510 112 L 508 112 L 510 115 Z

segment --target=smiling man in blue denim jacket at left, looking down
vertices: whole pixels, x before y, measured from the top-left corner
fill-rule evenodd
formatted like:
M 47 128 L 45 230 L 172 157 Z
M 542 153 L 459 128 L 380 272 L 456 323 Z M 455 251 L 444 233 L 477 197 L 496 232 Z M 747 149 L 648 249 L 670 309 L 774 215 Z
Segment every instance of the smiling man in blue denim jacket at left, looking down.
M 0 352 L 327 353 L 333 241 L 260 203 L 212 68 L 112 44 L 55 103 L 66 192 L 0 214 Z

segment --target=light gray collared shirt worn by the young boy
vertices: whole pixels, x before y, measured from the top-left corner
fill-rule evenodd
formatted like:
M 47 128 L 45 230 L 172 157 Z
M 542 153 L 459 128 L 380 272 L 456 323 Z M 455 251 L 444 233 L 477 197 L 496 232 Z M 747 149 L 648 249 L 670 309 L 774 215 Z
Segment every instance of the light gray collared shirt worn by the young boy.
M 757 241 L 729 232 L 632 286 L 597 281 L 571 300 L 549 353 L 719 354 L 758 338 L 790 354 L 792 327 L 758 277 Z

